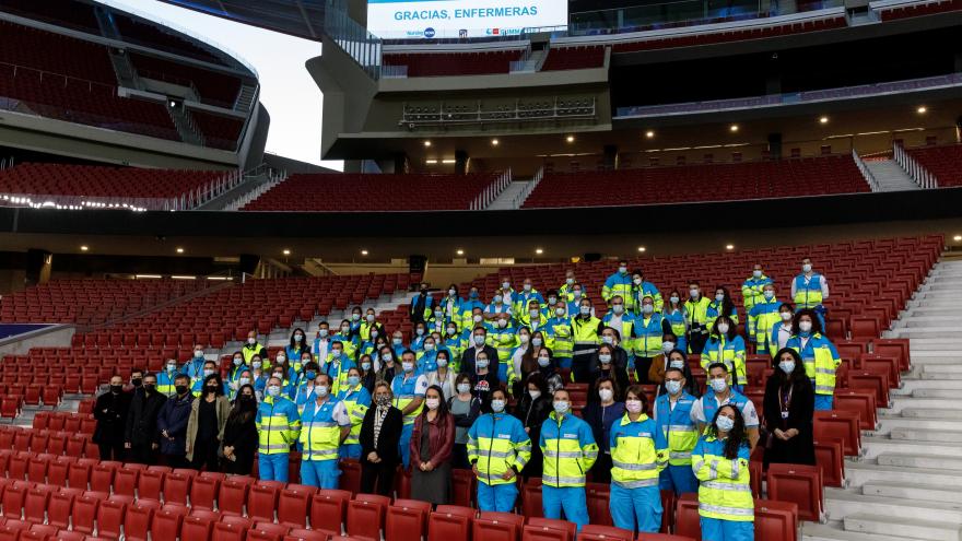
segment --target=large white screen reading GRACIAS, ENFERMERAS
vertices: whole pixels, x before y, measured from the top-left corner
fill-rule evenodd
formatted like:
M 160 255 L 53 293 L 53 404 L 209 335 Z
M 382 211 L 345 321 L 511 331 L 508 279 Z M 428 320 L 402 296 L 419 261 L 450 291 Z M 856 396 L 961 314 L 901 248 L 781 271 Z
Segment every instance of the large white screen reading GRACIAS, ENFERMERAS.
M 567 25 L 568 0 L 368 0 L 367 31 L 386 39 L 472 38 Z

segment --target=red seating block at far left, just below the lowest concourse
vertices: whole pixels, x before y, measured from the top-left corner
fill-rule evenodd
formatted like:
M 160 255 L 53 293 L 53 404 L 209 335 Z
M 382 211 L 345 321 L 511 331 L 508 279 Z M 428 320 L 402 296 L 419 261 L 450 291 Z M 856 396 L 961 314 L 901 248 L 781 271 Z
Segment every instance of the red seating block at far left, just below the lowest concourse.
M 0 298 L 0 321 L 97 325 L 207 285 L 206 280 L 55 280 Z

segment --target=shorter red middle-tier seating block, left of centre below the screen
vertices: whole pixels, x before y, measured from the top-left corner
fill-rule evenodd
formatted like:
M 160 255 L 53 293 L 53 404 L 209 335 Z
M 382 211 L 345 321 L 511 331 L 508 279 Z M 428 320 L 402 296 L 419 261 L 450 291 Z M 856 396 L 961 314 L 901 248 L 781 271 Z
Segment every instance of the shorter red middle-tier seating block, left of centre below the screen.
M 248 211 L 467 210 L 494 174 L 293 175 Z

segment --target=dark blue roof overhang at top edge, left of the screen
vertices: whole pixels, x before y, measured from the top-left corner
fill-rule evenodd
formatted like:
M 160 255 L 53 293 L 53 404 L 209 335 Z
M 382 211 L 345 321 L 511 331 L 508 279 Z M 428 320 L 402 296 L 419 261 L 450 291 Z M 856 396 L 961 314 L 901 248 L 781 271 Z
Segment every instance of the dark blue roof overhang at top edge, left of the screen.
M 159 0 L 243 24 L 320 40 L 325 0 Z

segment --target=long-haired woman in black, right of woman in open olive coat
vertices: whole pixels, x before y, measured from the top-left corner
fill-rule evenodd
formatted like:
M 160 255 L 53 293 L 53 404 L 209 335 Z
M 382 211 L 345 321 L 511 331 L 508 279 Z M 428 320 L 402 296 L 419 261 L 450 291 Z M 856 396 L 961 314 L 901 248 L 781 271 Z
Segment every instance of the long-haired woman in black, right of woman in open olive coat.
M 224 440 L 231 401 L 224 396 L 220 374 L 204 377 L 202 389 L 200 398 L 190 403 L 185 458 L 195 470 L 220 471 L 218 451 Z

